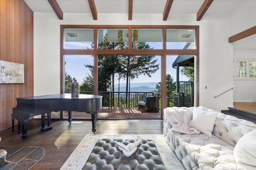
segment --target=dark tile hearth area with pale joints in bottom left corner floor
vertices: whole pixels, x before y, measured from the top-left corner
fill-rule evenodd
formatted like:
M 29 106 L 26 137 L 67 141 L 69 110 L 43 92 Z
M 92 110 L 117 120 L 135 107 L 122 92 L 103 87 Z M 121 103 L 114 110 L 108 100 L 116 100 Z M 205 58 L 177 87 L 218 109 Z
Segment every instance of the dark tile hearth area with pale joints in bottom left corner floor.
M 6 160 L 10 161 L 5 164 L 0 160 L 0 170 L 29 170 L 43 156 L 44 149 L 41 147 L 1 147 L 7 151 Z

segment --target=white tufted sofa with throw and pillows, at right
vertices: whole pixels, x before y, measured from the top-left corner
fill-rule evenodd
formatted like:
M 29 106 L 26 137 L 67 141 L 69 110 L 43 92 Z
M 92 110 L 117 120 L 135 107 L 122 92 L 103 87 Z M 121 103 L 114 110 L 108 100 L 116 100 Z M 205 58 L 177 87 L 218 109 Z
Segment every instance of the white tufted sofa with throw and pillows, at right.
M 204 115 L 196 118 L 198 110 Z M 183 134 L 177 127 L 190 128 L 188 133 L 197 133 L 191 127 L 198 127 L 205 134 Z M 256 170 L 256 125 L 252 122 L 205 107 L 167 107 L 164 137 L 187 170 Z

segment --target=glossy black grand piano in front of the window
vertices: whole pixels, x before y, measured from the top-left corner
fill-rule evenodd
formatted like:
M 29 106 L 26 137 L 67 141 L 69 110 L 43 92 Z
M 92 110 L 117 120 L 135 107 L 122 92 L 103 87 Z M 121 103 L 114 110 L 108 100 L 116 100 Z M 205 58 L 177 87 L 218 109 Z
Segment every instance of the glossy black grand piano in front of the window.
M 73 97 L 71 94 L 53 94 L 44 96 L 32 96 L 16 98 L 17 106 L 12 109 L 12 126 L 14 118 L 21 122 L 22 139 L 27 138 L 28 119 L 31 116 L 42 115 L 41 131 L 51 130 L 50 119 L 52 111 L 68 111 L 68 121 L 72 122 L 72 111 L 90 113 L 92 116 L 92 132 L 96 132 L 97 113 L 102 108 L 102 96 L 80 94 Z M 48 117 L 48 127 L 45 125 L 45 114 Z M 13 129 L 13 127 L 12 127 Z

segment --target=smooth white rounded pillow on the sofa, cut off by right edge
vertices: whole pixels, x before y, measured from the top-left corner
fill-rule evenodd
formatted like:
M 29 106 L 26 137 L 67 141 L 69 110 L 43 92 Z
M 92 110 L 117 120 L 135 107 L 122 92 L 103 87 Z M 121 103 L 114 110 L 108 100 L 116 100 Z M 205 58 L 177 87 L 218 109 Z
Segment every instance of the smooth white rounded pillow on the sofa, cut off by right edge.
M 239 139 L 234 148 L 234 158 L 244 170 L 256 170 L 256 130 Z

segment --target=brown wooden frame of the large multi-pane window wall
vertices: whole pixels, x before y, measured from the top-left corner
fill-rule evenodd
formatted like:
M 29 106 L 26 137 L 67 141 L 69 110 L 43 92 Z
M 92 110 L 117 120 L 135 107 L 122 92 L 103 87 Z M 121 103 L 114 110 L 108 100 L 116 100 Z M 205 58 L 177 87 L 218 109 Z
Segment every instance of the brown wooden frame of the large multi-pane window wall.
M 94 29 L 94 49 L 64 49 L 64 29 Z M 128 49 L 98 49 L 98 29 L 128 29 Z M 132 29 L 162 29 L 162 49 L 132 49 Z M 196 49 L 166 49 L 167 29 L 194 29 Z M 98 55 L 159 55 L 161 72 L 166 73 L 166 55 L 194 55 L 195 106 L 199 104 L 199 25 L 60 25 L 60 93 L 64 93 L 64 55 L 94 55 L 94 94 L 98 92 Z M 166 108 L 166 74 L 161 74 L 162 109 Z

